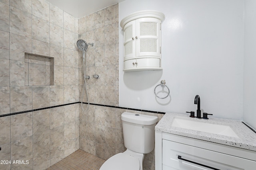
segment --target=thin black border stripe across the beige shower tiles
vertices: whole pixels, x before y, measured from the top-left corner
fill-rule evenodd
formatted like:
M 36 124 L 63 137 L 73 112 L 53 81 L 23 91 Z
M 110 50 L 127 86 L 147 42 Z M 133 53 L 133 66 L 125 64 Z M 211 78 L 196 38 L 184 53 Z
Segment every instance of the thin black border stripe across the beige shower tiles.
M 31 112 L 31 111 L 50 109 L 50 108 L 54 108 L 54 107 L 61 107 L 61 106 L 67 106 L 67 105 L 70 105 L 70 104 L 78 104 L 78 103 L 81 103 L 81 102 L 74 102 L 74 103 L 62 104 L 62 105 L 58 105 L 58 106 L 50 106 L 50 107 L 44 107 L 44 108 L 40 108 L 40 109 L 32 109 L 32 110 L 20 111 L 20 112 L 15 112 L 15 113 L 8 113 L 8 114 L 0 115 L 0 117 L 10 116 L 10 115 L 18 115 L 18 114 L 22 114 L 22 113 L 28 113 L 28 112 Z M 88 104 L 88 103 L 83 102 L 83 104 Z M 129 107 L 110 106 L 110 105 L 94 104 L 94 103 L 90 103 L 90 105 L 104 106 L 104 107 L 114 107 L 114 108 L 118 108 L 118 109 L 128 109 L 128 110 L 135 110 L 135 111 L 144 111 L 144 112 L 149 112 L 149 113 L 165 114 L 165 112 L 161 112 L 161 111 L 142 110 L 142 109 L 134 109 L 134 108 L 129 108 Z

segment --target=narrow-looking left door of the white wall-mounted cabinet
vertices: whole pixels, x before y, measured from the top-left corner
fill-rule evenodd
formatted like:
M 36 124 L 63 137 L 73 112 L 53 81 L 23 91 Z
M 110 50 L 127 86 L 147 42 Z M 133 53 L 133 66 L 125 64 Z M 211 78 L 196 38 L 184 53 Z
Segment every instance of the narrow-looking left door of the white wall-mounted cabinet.
M 124 26 L 124 61 L 136 57 L 135 31 L 135 20 L 126 23 Z

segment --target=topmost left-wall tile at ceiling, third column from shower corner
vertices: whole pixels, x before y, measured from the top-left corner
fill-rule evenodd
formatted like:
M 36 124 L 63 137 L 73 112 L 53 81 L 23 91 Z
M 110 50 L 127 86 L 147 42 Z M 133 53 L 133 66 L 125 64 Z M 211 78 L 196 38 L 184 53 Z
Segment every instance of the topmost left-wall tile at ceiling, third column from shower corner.
M 50 7 L 46 0 L 32 0 L 32 15 L 50 21 Z

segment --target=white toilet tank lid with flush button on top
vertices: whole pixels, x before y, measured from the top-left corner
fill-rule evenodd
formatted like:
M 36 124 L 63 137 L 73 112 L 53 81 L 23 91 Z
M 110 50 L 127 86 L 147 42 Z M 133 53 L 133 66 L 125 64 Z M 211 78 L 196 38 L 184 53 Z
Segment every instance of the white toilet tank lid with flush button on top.
M 124 112 L 121 115 L 122 121 L 127 121 L 130 123 L 135 123 L 139 125 L 153 125 L 158 121 L 157 116 L 142 115 L 137 113 Z

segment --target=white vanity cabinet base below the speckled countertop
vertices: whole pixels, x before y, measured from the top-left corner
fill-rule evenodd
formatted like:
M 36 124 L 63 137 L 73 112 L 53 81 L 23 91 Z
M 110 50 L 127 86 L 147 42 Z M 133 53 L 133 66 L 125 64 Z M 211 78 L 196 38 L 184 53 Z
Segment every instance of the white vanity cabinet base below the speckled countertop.
M 156 170 L 254 170 L 256 152 L 156 131 Z

